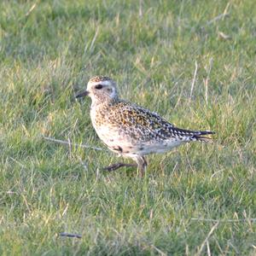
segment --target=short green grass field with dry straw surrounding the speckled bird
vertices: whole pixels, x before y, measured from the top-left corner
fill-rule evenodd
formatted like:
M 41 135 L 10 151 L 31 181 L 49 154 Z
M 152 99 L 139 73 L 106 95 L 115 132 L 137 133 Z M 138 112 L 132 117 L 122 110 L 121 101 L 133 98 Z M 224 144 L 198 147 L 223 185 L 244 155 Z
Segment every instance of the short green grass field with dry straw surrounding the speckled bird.
M 1 255 L 255 255 L 253 0 L 3 0 L 0 38 Z M 74 99 L 98 74 L 215 143 L 102 172 L 119 159 Z

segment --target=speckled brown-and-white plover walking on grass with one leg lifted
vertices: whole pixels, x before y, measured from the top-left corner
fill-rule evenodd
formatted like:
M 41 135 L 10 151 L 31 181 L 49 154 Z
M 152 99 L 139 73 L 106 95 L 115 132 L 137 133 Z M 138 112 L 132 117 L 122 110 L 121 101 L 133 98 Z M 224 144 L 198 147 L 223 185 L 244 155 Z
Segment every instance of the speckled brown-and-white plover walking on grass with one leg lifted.
M 212 141 L 208 136 L 213 131 L 177 128 L 158 113 L 120 99 L 116 82 L 108 76 L 91 78 L 86 90 L 76 98 L 84 96 L 90 96 L 90 119 L 98 137 L 114 153 L 135 161 L 104 170 L 137 166 L 137 173 L 143 176 L 148 165 L 146 155 L 165 153 L 184 143 Z

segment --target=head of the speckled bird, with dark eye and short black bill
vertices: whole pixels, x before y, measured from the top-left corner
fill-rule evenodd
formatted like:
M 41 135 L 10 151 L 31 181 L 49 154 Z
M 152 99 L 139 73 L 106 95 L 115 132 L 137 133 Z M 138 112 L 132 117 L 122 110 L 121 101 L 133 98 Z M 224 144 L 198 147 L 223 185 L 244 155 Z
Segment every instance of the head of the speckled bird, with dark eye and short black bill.
M 76 97 L 90 96 L 93 104 L 111 102 L 118 99 L 115 82 L 103 76 L 97 76 L 89 80 L 87 89 Z

